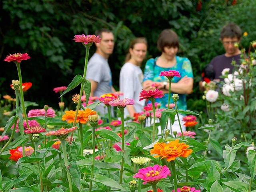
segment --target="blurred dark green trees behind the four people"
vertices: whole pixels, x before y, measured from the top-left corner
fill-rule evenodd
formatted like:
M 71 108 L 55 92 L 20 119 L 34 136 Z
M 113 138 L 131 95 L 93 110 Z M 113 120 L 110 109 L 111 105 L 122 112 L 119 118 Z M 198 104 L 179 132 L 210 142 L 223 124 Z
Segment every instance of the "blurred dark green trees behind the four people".
M 27 52 L 30 60 L 21 64 L 23 82 L 33 86 L 25 100 L 58 109 L 59 94 L 54 87 L 68 86 L 84 67 L 84 46 L 74 42 L 75 34 L 94 34 L 98 28 L 114 32 L 116 44 L 109 58 L 114 87 L 119 90 L 119 72 L 130 40 L 146 37 L 147 59 L 156 57 L 156 40 L 163 29 L 171 28 L 180 37 L 179 56 L 190 59 L 194 72 L 194 93 L 188 108 L 204 109 L 198 90 L 202 69 L 224 53 L 219 40 L 222 26 L 235 22 L 248 36 L 243 47 L 255 40 L 255 0 L 2 0 L 0 2 L 0 94 L 11 95 L 11 80 L 18 79 L 16 65 L 4 62 L 8 54 Z M 90 48 L 90 56 L 95 46 Z M 145 61 L 146 62 L 146 61 Z M 142 70 L 144 65 L 142 66 Z M 72 106 L 74 89 L 64 96 Z

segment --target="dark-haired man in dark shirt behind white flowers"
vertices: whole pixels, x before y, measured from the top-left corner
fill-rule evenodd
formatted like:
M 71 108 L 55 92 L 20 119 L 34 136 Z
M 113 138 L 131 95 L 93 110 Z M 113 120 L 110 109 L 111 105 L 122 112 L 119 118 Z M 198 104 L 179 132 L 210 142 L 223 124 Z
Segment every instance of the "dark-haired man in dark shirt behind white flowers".
M 241 37 L 242 30 L 235 23 L 229 23 L 222 28 L 220 32 L 220 40 L 224 46 L 225 54 L 214 57 L 210 64 L 206 66 L 202 81 L 204 81 L 204 78 L 207 78 L 214 82 L 220 82 L 223 80 L 220 78 L 223 69 L 229 68 L 229 72 L 231 73 L 234 68 L 234 66 L 231 65 L 231 62 L 234 60 L 236 64 L 240 63 L 241 51 L 239 50 L 238 43 L 240 42 Z M 210 76 L 208 77 L 207 74 L 210 74 Z M 200 90 L 204 90 L 202 81 L 199 82 Z

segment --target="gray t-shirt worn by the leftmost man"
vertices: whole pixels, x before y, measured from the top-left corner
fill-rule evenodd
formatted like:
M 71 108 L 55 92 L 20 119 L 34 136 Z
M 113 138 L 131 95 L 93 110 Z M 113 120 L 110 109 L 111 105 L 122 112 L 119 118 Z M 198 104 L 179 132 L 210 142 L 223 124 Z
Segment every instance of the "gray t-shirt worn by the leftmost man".
M 94 96 L 100 97 L 103 94 L 112 92 L 112 74 L 108 65 L 108 60 L 98 53 L 94 53 L 88 61 L 86 78 L 98 83 L 94 91 Z M 108 109 L 103 103 L 95 109 L 100 115 L 108 113 Z

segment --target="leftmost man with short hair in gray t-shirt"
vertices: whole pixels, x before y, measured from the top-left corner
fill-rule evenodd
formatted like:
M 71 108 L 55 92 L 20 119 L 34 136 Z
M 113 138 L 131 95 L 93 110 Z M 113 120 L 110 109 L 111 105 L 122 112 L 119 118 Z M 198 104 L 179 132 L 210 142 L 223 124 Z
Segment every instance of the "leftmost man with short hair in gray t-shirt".
M 91 82 L 91 96 L 99 97 L 105 93 L 115 91 L 112 86 L 112 75 L 108 64 L 108 58 L 114 49 L 114 35 L 108 29 L 96 31 L 95 35 L 99 35 L 102 40 L 95 44 L 96 52 L 88 62 L 86 78 Z M 101 116 L 108 113 L 107 108 L 102 103 L 94 110 Z

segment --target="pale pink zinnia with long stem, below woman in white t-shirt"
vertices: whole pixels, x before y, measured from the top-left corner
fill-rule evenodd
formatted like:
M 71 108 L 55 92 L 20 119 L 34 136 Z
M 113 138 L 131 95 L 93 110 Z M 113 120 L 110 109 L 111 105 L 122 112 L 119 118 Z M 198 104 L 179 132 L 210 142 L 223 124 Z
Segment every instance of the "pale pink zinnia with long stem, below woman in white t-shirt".
M 117 106 L 121 113 L 122 152 L 124 153 L 124 108 L 126 107 L 126 105 L 134 105 L 134 99 L 124 98 L 124 99 L 120 100 L 119 98 L 117 98 L 117 99 L 110 101 L 109 104 L 111 106 Z M 122 159 L 121 159 L 119 184 L 122 184 L 123 171 L 124 171 L 124 156 L 122 156 Z

